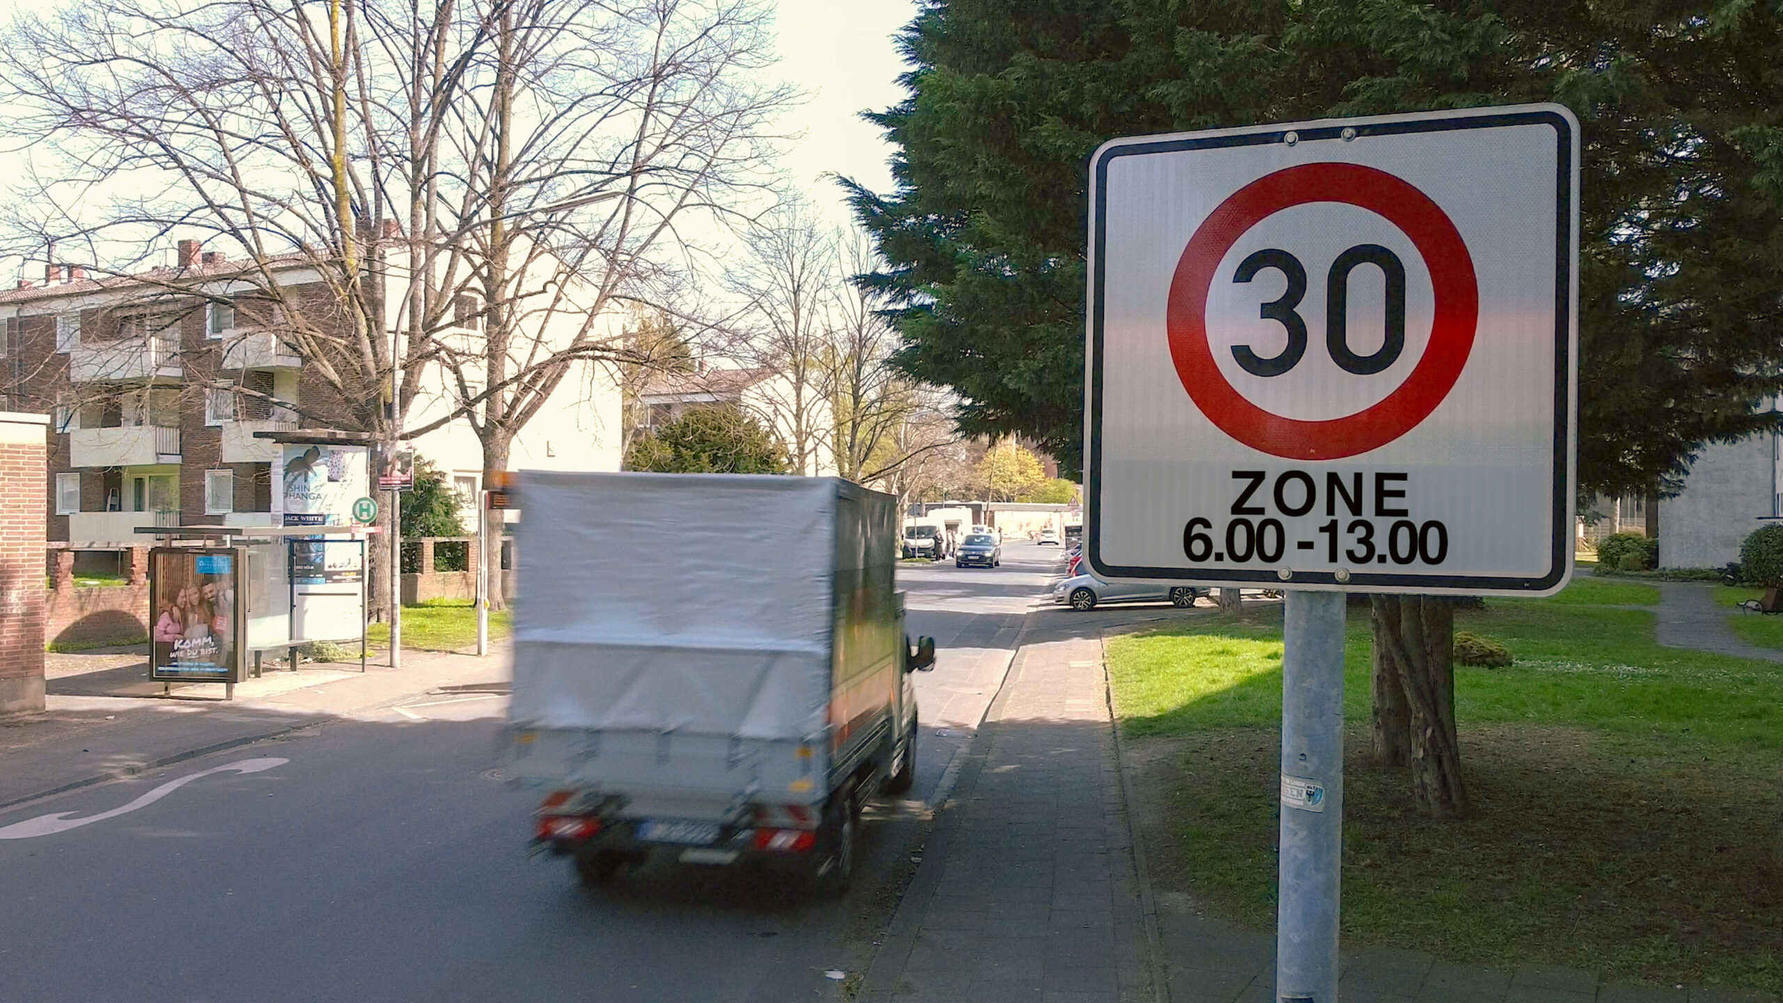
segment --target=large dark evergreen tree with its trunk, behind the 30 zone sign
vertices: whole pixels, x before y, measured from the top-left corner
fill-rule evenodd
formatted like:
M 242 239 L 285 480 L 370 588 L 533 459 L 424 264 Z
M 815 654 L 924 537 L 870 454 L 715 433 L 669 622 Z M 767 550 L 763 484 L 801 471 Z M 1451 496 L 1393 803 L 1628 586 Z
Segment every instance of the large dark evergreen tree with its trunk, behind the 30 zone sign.
M 1783 391 L 1783 7 L 1697 0 L 931 0 L 897 189 L 849 186 L 913 377 L 1082 459 L 1089 153 L 1114 136 L 1560 100 L 1583 121 L 1580 480 L 1674 489 Z M 1375 751 L 1466 808 L 1446 600 L 1375 603 Z

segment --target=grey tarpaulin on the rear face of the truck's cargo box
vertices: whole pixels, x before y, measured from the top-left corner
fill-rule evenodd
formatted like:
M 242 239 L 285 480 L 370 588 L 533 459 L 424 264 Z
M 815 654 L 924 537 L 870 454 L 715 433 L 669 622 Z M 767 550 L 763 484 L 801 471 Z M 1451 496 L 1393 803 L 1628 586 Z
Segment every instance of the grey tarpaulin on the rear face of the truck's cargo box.
M 521 493 L 515 725 L 822 734 L 834 480 L 528 471 Z

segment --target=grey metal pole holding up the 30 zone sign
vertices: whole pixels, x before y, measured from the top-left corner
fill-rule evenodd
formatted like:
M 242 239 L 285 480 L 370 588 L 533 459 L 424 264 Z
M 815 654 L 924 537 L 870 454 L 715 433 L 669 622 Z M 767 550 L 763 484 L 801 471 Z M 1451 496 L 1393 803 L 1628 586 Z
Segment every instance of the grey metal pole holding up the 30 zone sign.
M 1282 850 L 1275 994 L 1337 1001 L 1343 858 L 1343 593 L 1289 591 L 1282 653 Z

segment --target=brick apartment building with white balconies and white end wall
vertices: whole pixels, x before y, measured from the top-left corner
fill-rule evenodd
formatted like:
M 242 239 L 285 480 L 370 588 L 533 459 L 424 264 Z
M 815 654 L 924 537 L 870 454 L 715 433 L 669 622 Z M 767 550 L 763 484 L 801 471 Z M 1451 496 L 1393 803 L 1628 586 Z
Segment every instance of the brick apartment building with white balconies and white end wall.
M 351 330 L 301 261 L 280 268 L 283 303 L 296 303 L 289 309 L 305 311 L 312 327 Z M 287 307 L 232 278 L 242 271 L 244 262 L 180 241 L 169 268 L 89 277 L 50 264 L 41 282 L 0 291 L 0 410 L 52 416 L 50 541 L 116 546 L 150 543 L 139 526 L 273 525 L 276 444 L 255 434 L 351 428 L 332 419 L 349 414 L 349 403 L 282 337 Z M 455 334 L 474 341 L 476 305 L 456 318 L 464 330 Z M 619 469 L 617 377 L 578 366 L 517 437 L 510 468 Z M 410 425 L 449 414 L 460 394 L 456 380 L 424 371 Z M 414 446 L 474 498 L 483 459 L 462 419 Z

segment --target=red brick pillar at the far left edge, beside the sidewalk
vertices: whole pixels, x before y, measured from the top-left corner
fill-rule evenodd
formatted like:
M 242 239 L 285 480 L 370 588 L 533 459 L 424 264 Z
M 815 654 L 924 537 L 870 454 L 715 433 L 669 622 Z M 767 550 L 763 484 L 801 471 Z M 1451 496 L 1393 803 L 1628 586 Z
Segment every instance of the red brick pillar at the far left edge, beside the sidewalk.
M 0 412 L 0 714 L 43 710 L 48 418 Z

